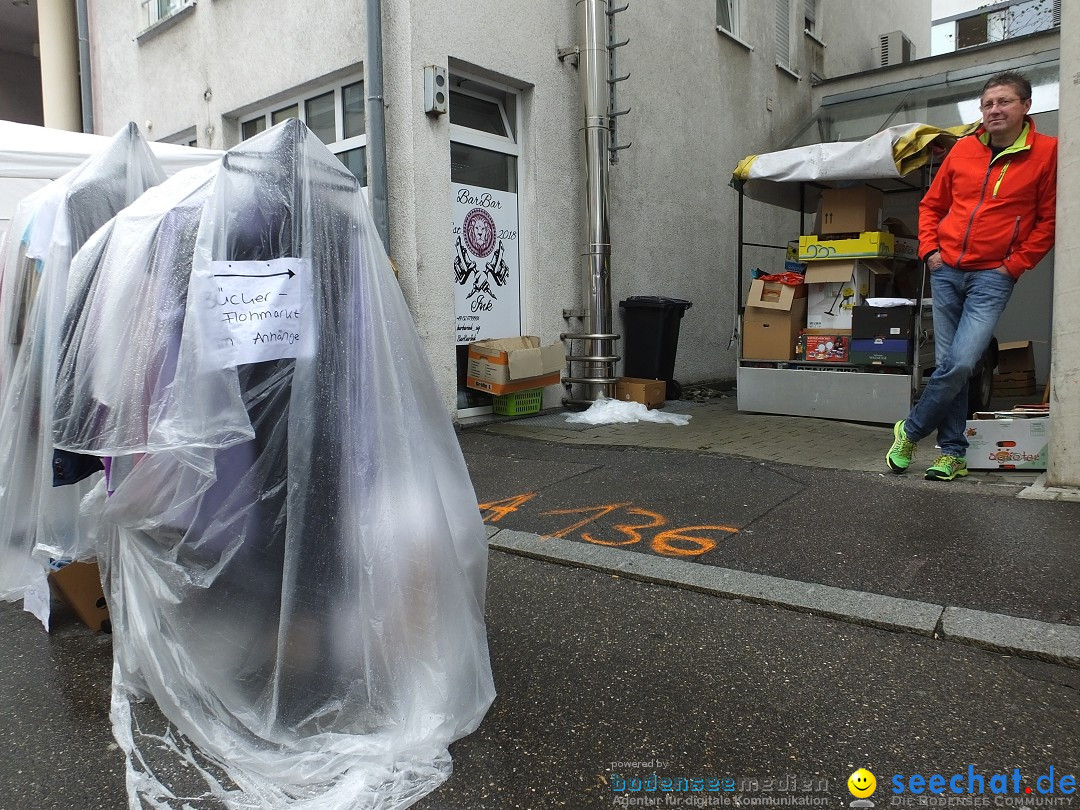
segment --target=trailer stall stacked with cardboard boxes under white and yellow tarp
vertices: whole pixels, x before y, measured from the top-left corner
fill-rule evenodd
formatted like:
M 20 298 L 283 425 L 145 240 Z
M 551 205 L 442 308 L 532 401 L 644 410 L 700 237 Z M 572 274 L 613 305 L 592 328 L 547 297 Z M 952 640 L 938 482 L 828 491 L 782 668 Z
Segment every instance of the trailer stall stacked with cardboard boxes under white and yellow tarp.
M 915 208 L 941 156 L 969 130 L 906 124 L 739 164 L 740 410 L 867 422 L 907 414 L 933 363 Z M 747 240 L 747 201 L 796 212 L 798 231 Z M 747 247 L 765 257 L 755 272 Z M 785 285 L 775 278 L 785 271 L 805 283 Z M 870 303 L 892 311 L 875 314 Z

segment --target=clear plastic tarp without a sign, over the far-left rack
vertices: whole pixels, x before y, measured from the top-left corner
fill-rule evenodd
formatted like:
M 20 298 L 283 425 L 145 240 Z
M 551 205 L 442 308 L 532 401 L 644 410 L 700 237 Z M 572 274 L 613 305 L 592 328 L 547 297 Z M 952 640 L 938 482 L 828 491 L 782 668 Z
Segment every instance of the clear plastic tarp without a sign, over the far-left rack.
M 135 124 L 105 144 L 23 201 L 0 255 L 0 598 L 32 592 L 46 624 L 50 559 L 93 555 L 93 526 L 79 505 L 100 477 L 53 486 L 50 426 L 71 258 L 165 177 Z

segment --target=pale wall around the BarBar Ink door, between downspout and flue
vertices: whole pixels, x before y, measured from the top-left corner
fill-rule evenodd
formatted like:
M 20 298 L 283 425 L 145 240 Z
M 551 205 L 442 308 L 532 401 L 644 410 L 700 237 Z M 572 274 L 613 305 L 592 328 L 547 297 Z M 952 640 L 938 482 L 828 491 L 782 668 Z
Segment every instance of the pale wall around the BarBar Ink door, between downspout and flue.
M 556 58 L 576 41 L 571 3 L 498 0 L 383 0 L 387 161 L 391 247 L 402 287 L 443 382 L 455 397 L 454 279 L 450 270 L 450 124 L 423 112 L 424 65 L 521 91 L 519 225 L 526 291 L 522 330 L 545 342 L 578 306 L 577 73 Z M 404 99 L 404 102 L 402 100 Z M 559 396 L 549 389 L 549 404 Z

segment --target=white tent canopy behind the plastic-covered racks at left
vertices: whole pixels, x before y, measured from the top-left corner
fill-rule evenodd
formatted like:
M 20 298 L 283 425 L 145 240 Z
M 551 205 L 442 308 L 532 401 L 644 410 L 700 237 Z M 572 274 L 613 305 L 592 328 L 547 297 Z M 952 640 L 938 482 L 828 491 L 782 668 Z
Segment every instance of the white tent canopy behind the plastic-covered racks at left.
M 27 194 L 67 174 L 109 143 L 104 135 L 0 121 L 0 235 Z M 165 174 L 217 160 L 221 152 L 175 144 L 150 144 Z

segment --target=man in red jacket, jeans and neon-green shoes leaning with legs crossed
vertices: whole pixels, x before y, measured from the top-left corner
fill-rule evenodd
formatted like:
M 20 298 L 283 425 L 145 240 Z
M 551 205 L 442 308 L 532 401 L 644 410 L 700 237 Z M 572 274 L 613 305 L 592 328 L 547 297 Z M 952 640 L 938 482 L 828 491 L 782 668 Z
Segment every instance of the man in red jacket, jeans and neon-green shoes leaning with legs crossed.
M 980 98 L 983 124 L 957 141 L 919 204 L 919 255 L 930 269 L 937 367 L 886 460 L 907 470 L 916 443 L 937 431 L 932 481 L 968 474 L 968 380 L 1013 285 L 1054 245 L 1057 140 L 1027 114 L 1031 84 L 1007 71 Z

